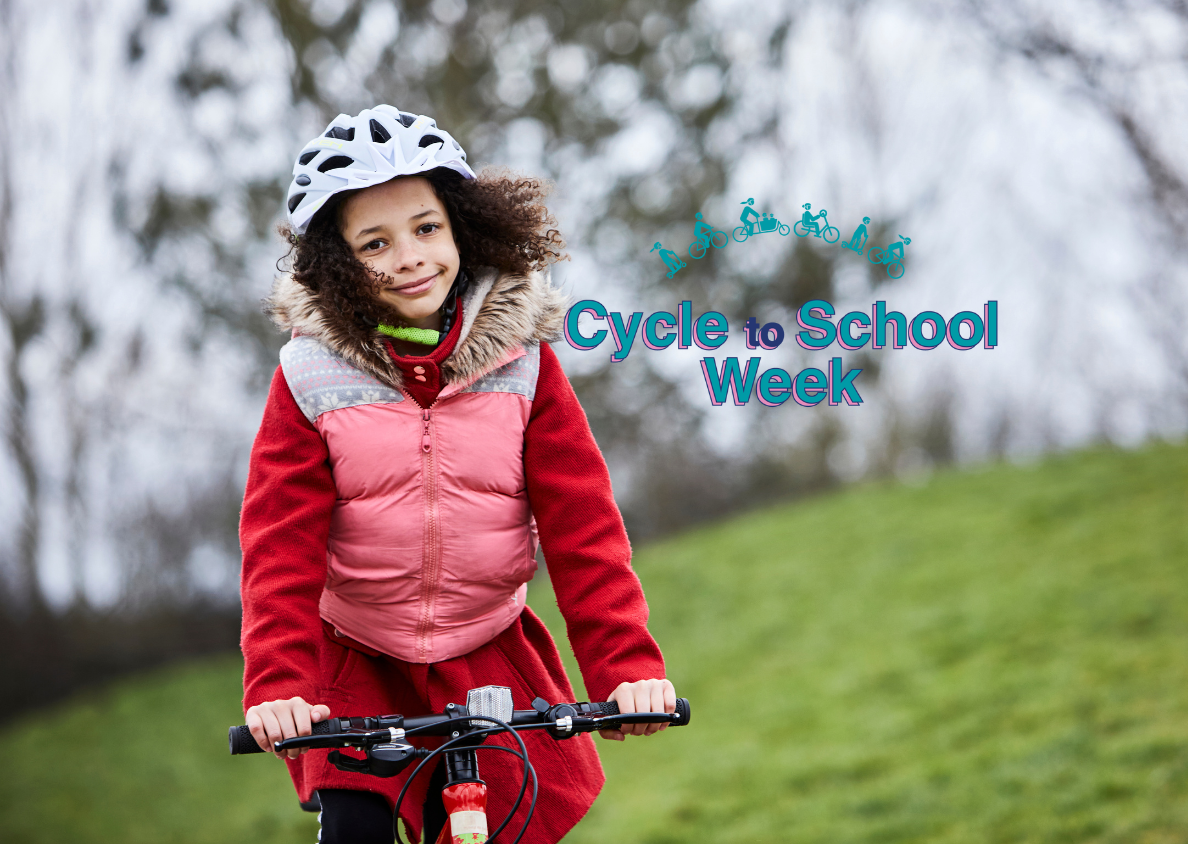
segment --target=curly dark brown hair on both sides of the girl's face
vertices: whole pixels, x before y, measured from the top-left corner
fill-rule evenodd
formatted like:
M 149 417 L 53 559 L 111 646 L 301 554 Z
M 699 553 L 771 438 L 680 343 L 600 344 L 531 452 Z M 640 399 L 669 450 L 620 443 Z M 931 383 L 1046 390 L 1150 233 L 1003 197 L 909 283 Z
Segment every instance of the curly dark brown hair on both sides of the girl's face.
M 492 168 L 478 178 L 444 168 L 423 175 L 446 206 L 463 270 L 527 273 L 568 258 L 557 221 L 544 206 L 548 182 Z M 341 212 L 350 193 L 334 196 L 301 237 L 287 223 L 279 227 L 289 252 L 278 267 L 287 260 L 293 278 L 318 294 L 322 307 L 361 323 L 362 333 L 398 317 L 377 297 L 384 278 L 364 266 L 342 237 Z

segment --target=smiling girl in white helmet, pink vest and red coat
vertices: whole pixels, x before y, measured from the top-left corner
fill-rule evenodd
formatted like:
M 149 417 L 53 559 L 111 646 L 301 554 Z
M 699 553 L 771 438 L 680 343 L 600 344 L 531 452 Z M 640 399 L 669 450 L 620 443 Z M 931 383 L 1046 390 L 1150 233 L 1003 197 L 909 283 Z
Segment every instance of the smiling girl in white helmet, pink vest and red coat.
M 589 698 L 672 712 L 606 465 L 548 345 L 564 304 L 543 271 L 563 244 L 541 183 L 476 177 L 434 120 L 391 106 L 337 116 L 293 176 L 292 273 L 268 300 L 292 340 L 240 528 L 244 706 L 260 747 L 331 714 L 441 712 L 486 685 L 511 687 L 516 708 L 575 700 L 524 605 L 538 542 Z M 523 840 L 551 844 L 602 770 L 589 736 L 525 741 L 545 811 Z M 407 771 L 287 756 L 301 800 L 320 798 L 322 844 L 392 840 Z M 501 757 L 484 757 L 493 818 L 519 782 Z M 413 834 L 423 806 L 430 843 L 435 776 L 404 802 Z

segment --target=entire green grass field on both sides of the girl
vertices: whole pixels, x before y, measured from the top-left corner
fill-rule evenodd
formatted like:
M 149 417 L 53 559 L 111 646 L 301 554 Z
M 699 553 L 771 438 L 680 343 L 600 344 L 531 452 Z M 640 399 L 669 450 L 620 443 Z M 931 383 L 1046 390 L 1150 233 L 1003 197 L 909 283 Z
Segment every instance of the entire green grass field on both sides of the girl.
M 600 742 L 567 842 L 1188 842 L 1188 447 L 864 485 L 636 565 L 694 720 Z M 0 840 L 311 844 L 283 766 L 227 755 L 239 670 L 8 724 Z

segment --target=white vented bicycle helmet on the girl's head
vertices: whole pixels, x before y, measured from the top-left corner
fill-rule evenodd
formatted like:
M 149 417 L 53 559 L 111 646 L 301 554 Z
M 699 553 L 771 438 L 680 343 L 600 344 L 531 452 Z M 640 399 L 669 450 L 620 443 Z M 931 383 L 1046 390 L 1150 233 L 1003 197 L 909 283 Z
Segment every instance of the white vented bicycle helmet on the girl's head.
M 435 168 L 475 177 L 466 151 L 432 118 L 392 106 L 365 108 L 355 116 L 340 114 L 297 156 L 285 203 L 289 222 L 303 234 L 335 194 Z

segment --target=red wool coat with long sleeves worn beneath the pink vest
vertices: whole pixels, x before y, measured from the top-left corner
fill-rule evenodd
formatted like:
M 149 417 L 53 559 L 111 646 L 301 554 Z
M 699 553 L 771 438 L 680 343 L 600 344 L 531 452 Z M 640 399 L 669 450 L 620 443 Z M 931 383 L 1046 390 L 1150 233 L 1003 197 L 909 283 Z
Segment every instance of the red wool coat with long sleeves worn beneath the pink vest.
M 449 354 L 455 339 L 451 332 L 430 359 Z M 425 401 L 426 385 L 412 380 L 411 366 L 426 359 L 396 363 L 404 383 L 421 388 L 406 392 Z M 524 434 L 524 467 L 550 579 L 590 699 L 605 700 L 624 681 L 663 678 L 606 464 L 573 388 L 544 344 Z M 511 687 L 516 708 L 529 708 L 538 695 L 549 703 L 576 699 L 552 638 L 529 609 L 487 644 L 429 665 L 403 662 L 335 636 L 317 609 L 334 504 L 326 443 L 278 370 L 252 448 L 240 525 L 245 710 L 301 697 L 327 704 L 333 716 L 417 716 L 465 703 L 469 688 L 485 685 Z M 523 840 L 551 844 L 589 808 L 604 781 L 601 766 L 588 736 L 556 742 L 525 733 L 524 739 L 541 791 Z M 312 750 L 289 762 L 302 800 L 318 788 L 355 788 L 394 802 L 404 776 L 381 780 L 340 771 L 327 762 L 327 752 Z M 497 824 L 518 789 L 518 763 L 495 752 L 480 752 L 479 760 Z M 416 830 L 426 782 L 428 776 L 418 777 L 402 811 Z

